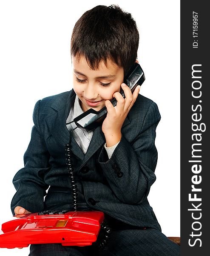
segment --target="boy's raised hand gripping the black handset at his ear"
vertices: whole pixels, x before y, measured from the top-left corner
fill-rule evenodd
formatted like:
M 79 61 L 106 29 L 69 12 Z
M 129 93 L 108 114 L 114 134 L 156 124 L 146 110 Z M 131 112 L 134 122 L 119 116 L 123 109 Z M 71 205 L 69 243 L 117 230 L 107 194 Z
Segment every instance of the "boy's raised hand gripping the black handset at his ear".
M 140 90 L 140 85 L 138 85 L 132 94 L 130 88 L 125 83 L 122 83 L 121 87 L 125 93 L 125 99 L 119 92 L 115 92 L 113 94 L 113 97 L 117 100 L 115 107 L 109 100 L 105 101 L 107 116 L 103 121 L 102 131 L 105 135 L 107 147 L 111 147 L 121 140 L 123 122 L 136 101 Z

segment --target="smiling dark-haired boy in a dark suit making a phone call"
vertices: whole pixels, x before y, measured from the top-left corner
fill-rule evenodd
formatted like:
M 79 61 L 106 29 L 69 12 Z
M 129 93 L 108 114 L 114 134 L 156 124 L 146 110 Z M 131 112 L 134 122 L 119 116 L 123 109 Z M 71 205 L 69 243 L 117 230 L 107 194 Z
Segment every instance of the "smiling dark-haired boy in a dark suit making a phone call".
M 30 246 L 30 256 L 179 255 L 179 246 L 161 233 L 147 200 L 156 179 L 154 142 L 160 114 L 156 103 L 139 94 L 139 86 L 132 94 L 123 84 L 125 74 L 138 62 L 138 45 L 136 23 L 119 6 L 96 6 L 75 24 L 73 89 L 36 103 L 25 167 L 13 179 L 17 192 L 11 210 L 17 217 L 51 209 L 74 210 L 65 159 L 70 136 L 66 123 L 89 108 L 99 111 L 106 106 L 101 126 L 89 132 L 74 130 L 71 150 L 77 210 L 104 212 L 112 232 L 100 251 L 94 246 L 35 244 Z M 116 107 L 110 102 L 113 98 Z

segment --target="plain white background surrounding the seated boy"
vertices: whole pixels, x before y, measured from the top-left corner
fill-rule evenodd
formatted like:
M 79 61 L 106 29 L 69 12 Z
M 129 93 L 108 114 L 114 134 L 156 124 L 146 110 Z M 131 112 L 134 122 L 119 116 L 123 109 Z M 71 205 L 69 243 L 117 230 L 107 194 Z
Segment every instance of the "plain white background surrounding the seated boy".
M 76 21 L 96 5 L 131 12 L 140 33 L 140 93 L 157 103 L 158 163 L 149 202 L 166 236 L 180 236 L 180 6 L 176 0 L 0 1 L 0 224 L 13 219 L 15 173 L 23 167 L 34 104 L 71 90 L 70 39 Z M 78 38 L 79 40 L 79 38 Z M 0 249 L 27 256 L 29 247 Z

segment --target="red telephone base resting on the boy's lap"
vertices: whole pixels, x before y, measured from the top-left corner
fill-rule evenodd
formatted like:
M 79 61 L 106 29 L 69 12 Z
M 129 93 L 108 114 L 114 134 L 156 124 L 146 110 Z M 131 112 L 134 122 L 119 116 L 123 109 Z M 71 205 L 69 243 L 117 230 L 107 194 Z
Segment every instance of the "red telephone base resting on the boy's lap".
M 97 211 L 29 213 L 2 224 L 0 247 L 28 247 L 29 244 L 49 243 L 91 245 L 98 237 L 103 220 L 104 213 Z

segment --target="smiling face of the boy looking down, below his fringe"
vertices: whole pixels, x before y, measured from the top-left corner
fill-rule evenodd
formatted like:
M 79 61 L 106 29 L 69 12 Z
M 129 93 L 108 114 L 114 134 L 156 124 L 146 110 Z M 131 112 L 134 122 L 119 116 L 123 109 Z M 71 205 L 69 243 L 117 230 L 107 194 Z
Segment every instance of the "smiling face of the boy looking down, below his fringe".
M 113 99 L 113 94 L 119 92 L 123 83 L 124 70 L 116 64 L 107 61 L 100 62 L 98 70 L 91 70 L 85 57 L 79 61 L 72 57 L 73 88 L 83 111 L 93 108 L 99 111 L 105 106 L 105 100 Z

